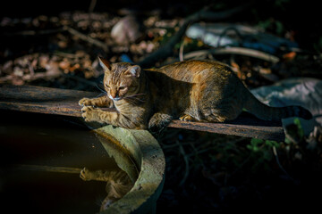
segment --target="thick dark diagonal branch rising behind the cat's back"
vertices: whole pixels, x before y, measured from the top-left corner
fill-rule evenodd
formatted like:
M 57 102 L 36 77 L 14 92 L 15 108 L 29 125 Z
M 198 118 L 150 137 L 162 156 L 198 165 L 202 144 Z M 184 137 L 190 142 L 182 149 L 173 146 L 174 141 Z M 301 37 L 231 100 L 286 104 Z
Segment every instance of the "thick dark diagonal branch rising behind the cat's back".
M 191 16 L 188 16 L 185 21 L 182 23 L 181 28 L 176 32 L 174 37 L 171 37 L 170 40 L 162 47 L 157 49 L 154 53 L 151 53 L 140 61 L 138 64 L 143 67 L 149 67 L 155 62 L 165 59 L 168 55 L 173 53 L 174 45 L 177 44 L 182 36 L 185 34 L 186 29 L 193 23 L 206 20 L 206 21 L 220 21 L 227 19 L 238 12 L 244 11 L 246 8 L 249 8 L 251 4 L 243 4 L 242 6 L 234 7 L 233 9 L 226 10 L 224 12 L 208 12 L 208 7 L 200 10 L 199 12 L 193 13 Z

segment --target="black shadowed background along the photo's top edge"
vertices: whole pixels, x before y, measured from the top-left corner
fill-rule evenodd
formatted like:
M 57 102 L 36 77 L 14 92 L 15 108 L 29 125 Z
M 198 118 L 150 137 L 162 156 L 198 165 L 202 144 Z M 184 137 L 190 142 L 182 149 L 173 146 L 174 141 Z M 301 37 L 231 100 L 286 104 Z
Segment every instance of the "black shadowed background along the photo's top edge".
M 97 0 L 94 12 L 117 13 L 119 9 L 128 8 L 139 11 L 160 10 L 163 16 L 185 17 L 192 12 L 197 12 L 205 5 L 214 5 L 218 9 L 229 9 L 233 6 L 246 4 L 251 1 L 183 1 L 183 0 L 165 0 L 165 1 L 104 1 Z M 319 41 L 322 35 L 320 24 L 320 8 L 317 1 L 292 1 L 292 0 L 263 0 L 252 1 L 253 6 L 250 10 L 243 12 L 236 20 L 256 23 L 267 19 L 281 21 L 286 29 L 292 29 L 296 32 L 296 41 L 302 48 L 314 49 L 313 45 L 321 43 Z M 57 15 L 66 11 L 89 11 L 90 1 L 5 1 L 0 7 L 0 17 L 34 17 L 37 15 Z M 322 44 L 318 45 L 319 49 Z

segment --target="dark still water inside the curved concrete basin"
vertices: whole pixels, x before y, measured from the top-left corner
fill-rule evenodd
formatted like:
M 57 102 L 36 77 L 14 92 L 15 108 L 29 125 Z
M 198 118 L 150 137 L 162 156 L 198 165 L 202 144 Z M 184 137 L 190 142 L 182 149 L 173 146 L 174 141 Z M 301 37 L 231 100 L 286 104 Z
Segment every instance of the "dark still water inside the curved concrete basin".
M 94 133 L 68 117 L 0 111 L 0 204 L 8 212 L 95 213 L 106 182 L 80 169 L 121 170 Z M 46 166 L 51 171 L 40 167 Z M 72 173 L 61 172 L 60 168 Z

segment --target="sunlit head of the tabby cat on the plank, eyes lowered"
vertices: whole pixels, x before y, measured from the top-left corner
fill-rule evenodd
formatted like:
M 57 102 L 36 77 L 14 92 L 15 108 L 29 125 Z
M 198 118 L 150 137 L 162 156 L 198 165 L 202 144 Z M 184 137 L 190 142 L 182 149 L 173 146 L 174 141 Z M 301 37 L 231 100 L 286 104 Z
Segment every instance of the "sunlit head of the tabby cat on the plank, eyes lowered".
M 140 66 L 127 62 L 109 63 L 98 57 L 105 70 L 104 87 L 108 97 L 114 101 L 136 95 L 140 89 Z

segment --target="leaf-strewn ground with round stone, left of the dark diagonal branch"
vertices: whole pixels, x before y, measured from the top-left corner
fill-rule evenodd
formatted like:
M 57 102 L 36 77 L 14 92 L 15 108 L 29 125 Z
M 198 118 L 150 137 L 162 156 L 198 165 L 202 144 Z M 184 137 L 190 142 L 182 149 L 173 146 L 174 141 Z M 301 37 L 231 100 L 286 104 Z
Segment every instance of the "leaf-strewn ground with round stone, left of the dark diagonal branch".
M 138 62 L 158 48 L 158 38 L 166 32 L 160 26 L 168 28 L 176 24 L 176 20 L 162 21 L 157 15 L 148 20 L 139 22 L 132 16 L 121 18 L 106 12 L 62 12 L 53 17 L 22 19 L 4 17 L 0 21 L 4 29 L 0 37 L 10 41 L 10 45 L 2 44 L 4 51 L 0 51 L 4 56 L 0 84 L 30 84 L 41 79 L 55 80 L 66 74 L 98 78 L 101 70 L 93 69 L 97 68 L 98 55 L 120 62 L 123 53 L 131 53 L 131 60 Z

